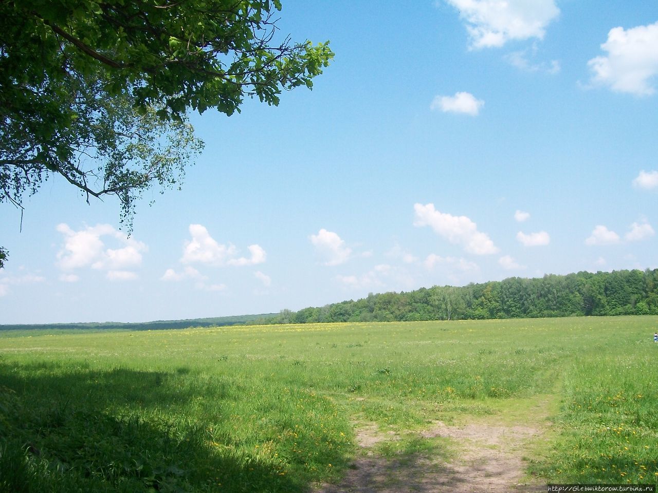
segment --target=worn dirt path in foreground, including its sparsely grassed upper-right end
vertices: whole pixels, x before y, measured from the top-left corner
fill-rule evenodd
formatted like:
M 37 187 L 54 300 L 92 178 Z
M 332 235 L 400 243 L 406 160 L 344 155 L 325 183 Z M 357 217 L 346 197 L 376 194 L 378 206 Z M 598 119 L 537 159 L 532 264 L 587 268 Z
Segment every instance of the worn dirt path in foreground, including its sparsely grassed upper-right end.
M 508 493 L 545 492 L 545 483 L 528 479 L 524 457 L 545 438 L 555 396 L 534 396 L 524 410 L 489 417 L 459 417 L 449 426 L 433 421 L 415 433 L 420 440 L 449 440 L 455 458 L 423 452 L 386 457 L 382 445 L 403 440 L 374 423 L 357 430 L 360 454 L 340 484 L 322 484 L 315 493 Z M 527 403 L 530 402 L 528 406 Z M 512 419 L 513 423 L 510 423 Z M 413 433 L 409 433 L 413 435 Z M 407 435 L 408 438 L 409 434 Z

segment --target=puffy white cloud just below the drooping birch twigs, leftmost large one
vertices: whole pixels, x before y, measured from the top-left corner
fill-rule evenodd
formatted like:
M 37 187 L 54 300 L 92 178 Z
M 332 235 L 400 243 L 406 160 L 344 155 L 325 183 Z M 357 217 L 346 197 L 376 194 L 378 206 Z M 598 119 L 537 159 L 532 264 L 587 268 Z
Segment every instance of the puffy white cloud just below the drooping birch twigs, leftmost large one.
M 64 235 L 64 245 L 57 253 L 57 265 L 61 270 L 70 271 L 80 268 L 92 268 L 107 271 L 112 280 L 135 279 L 137 275 L 128 270 L 141 265 L 142 253 L 148 247 L 141 241 L 128 238 L 109 224 L 97 224 L 75 231 L 69 225 L 61 223 L 56 227 Z M 120 248 L 108 248 L 105 241 L 118 243 Z M 60 277 L 73 282 L 73 274 Z

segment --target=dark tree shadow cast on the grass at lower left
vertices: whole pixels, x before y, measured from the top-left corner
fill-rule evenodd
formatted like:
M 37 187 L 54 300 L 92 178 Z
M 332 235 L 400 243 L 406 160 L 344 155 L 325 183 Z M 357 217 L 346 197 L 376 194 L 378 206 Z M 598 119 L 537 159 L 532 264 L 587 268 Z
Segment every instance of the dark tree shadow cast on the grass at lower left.
M 0 491 L 304 490 L 273 465 L 210 441 L 205 423 L 182 415 L 177 404 L 202 390 L 180 385 L 185 373 L 0 363 Z M 203 397 L 224 394 L 219 385 Z

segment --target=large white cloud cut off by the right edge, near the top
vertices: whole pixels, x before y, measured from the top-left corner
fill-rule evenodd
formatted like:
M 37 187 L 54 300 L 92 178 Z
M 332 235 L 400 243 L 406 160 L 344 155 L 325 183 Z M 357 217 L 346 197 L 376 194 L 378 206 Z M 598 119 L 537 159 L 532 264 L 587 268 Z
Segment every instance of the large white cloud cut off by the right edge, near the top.
M 613 28 L 601 49 L 607 55 L 588 62 L 593 72 L 593 83 L 638 96 L 655 92 L 653 79 L 658 74 L 658 22 L 628 30 Z

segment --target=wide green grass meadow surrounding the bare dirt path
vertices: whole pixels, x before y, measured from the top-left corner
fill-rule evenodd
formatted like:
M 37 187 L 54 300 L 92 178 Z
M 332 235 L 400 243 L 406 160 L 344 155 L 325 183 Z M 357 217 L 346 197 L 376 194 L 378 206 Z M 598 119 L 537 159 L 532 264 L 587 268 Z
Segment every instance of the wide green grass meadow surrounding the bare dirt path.
M 537 396 L 554 433 L 532 475 L 658 484 L 657 328 L 635 316 L 7 331 L 0 490 L 303 492 L 340 480 L 359 423 L 409 434 L 532 419 Z

